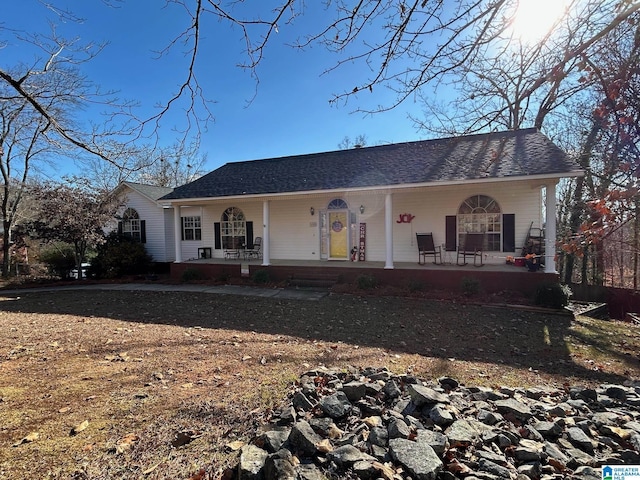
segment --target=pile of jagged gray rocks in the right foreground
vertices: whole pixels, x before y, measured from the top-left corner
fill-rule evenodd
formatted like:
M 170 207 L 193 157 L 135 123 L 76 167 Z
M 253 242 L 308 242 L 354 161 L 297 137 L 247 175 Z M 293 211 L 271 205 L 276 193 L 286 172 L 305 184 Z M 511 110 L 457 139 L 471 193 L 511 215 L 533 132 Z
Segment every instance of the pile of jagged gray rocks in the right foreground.
M 303 374 L 241 449 L 245 479 L 598 479 L 640 465 L 640 382 L 472 388 L 386 369 Z

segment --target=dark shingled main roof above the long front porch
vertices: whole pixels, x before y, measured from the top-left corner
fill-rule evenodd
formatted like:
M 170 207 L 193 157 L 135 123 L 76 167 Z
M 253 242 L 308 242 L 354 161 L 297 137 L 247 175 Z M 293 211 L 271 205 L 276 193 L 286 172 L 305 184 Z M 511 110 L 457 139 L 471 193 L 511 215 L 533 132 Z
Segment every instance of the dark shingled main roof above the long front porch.
M 575 176 L 579 167 L 537 129 L 227 163 L 163 200 Z

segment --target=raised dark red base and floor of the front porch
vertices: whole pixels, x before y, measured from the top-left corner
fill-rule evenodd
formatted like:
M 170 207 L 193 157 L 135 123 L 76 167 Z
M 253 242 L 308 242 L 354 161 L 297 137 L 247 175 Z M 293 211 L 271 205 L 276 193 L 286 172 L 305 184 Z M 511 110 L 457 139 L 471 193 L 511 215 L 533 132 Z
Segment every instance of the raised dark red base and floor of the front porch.
M 426 289 L 460 291 L 465 279 L 478 282 L 482 292 L 520 292 L 533 295 L 540 285 L 559 281 L 557 273 L 542 270 L 530 272 L 526 267 L 513 264 L 485 263 L 474 267 L 473 263 L 457 265 L 456 254 L 445 256 L 442 264 L 395 262 L 393 269 L 385 268 L 385 262 L 344 262 L 314 260 L 271 259 L 265 265 L 261 259 L 194 259 L 171 264 L 171 277 L 180 280 L 187 270 L 196 270 L 210 280 L 253 278 L 259 270 L 267 272 L 270 281 L 296 284 L 299 280 L 326 280 L 328 283 L 355 283 L 361 275 L 373 276 L 378 284 L 408 287 L 421 283 Z

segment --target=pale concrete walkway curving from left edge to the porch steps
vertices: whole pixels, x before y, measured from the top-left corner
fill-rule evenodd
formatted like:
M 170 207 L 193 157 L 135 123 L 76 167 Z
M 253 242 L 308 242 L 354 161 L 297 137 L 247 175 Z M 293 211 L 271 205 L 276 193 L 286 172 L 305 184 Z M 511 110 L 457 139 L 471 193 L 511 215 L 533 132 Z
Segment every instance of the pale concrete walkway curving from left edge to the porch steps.
M 253 297 L 281 298 L 286 300 L 320 300 L 329 293 L 322 290 L 286 289 L 286 288 L 260 288 L 246 287 L 242 285 L 168 285 L 163 283 L 114 283 L 114 284 L 90 284 L 90 285 L 64 285 L 35 288 L 14 288 L 0 290 L 0 297 L 5 295 L 25 295 L 38 292 L 62 292 L 62 291 L 90 291 L 90 290 L 118 290 L 118 291 L 147 291 L 147 292 L 195 292 L 213 293 L 219 295 L 244 295 Z

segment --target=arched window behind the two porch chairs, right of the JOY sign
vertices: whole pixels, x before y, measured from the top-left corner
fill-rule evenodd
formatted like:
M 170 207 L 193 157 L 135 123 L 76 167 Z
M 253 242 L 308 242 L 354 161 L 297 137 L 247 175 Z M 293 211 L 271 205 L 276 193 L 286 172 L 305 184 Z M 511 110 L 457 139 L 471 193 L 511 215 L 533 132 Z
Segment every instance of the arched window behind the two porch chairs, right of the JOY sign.
M 458 244 L 467 232 L 486 233 L 486 250 L 500 251 L 502 211 L 500 205 L 487 195 L 473 195 L 458 209 Z

